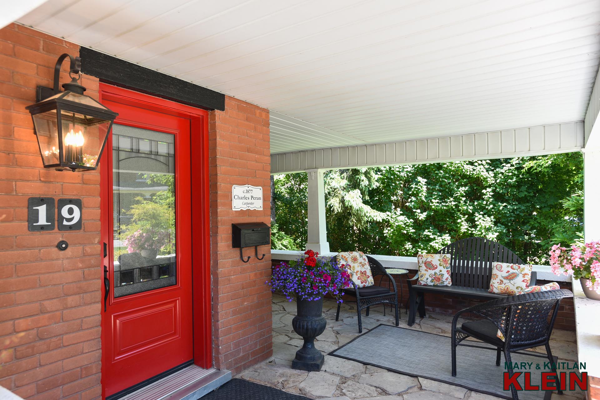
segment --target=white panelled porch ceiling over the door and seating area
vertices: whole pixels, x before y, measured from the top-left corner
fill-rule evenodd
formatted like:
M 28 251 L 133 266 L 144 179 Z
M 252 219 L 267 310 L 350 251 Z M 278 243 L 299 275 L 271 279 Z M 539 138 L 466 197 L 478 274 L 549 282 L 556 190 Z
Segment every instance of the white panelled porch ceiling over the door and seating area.
M 49 0 L 19 20 L 271 110 L 273 154 L 582 121 L 598 0 Z

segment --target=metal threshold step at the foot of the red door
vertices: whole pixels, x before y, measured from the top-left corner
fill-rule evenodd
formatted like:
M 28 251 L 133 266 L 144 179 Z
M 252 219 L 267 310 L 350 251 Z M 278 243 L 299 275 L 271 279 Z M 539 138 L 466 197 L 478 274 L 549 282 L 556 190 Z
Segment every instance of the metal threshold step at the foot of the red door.
M 231 380 L 231 371 L 190 365 L 119 400 L 196 400 Z

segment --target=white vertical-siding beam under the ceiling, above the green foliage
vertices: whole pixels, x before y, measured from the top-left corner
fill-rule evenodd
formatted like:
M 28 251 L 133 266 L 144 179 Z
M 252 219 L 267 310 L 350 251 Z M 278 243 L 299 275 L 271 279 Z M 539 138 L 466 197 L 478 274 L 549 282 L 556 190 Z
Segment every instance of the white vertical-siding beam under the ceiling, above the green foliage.
M 584 124 L 579 121 L 379 145 L 273 154 L 271 173 L 300 172 L 310 168 L 378 167 L 567 153 L 583 148 L 583 135 Z M 311 161 L 307 164 L 302 160 Z M 317 163 L 314 160 L 318 160 Z

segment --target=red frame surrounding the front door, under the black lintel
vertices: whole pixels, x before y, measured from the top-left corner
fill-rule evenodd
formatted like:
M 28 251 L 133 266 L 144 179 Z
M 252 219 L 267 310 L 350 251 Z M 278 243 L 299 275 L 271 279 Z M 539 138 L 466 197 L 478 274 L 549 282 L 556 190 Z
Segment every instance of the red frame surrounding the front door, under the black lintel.
M 211 324 L 211 253 L 210 253 L 210 202 L 209 202 L 209 171 L 208 171 L 208 112 L 174 101 L 164 100 L 117 86 L 100 83 L 98 91 L 99 100 L 116 101 L 130 106 L 140 107 L 155 112 L 175 115 L 190 119 L 190 154 L 191 157 L 191 222 L 192 222 L 192 302 L 193 302 L 193 345 L 194 364 L 201 368 L 212 366 L 212 324 Z M 119 124 L 119 117 L 115 124 Z M 104 151 L 103 160 L 106 163 L 108 150 Z M 106 177 L 101 174 L 101 188 L 107 184 Z M 102 228 L 102 240 L 109 243 L 106 224 L 109 215 L 107 213 L 109 194 L 106 190 L 100 193 L 100 218 Z M 107 255 L 107 257 L 110 254 Z M 103 267 L 108 260 L 103 258 Z M 104 285 L 100 282 L 101 293 L 104 294 Z M 103 297 L 104 298 L 104 297 Z M 109 306 L 110 303 L 107 303 Z M 104 312 L 102 323 L 104 326 Z M 108 339 L 109 332 L 103 329 L 101 341 Z M 104 357 L 102 352 L 102 381 L 104 381 Z M 103 390 L 104 393 L 104 390 Z

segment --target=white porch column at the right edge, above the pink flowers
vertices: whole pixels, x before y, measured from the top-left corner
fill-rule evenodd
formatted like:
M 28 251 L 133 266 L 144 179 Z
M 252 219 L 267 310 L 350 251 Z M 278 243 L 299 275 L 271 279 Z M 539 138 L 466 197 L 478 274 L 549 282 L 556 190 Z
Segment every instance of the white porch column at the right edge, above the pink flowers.
M 583 228 L 586 242 L 600 240 L 600 147 L 583 152 Z

